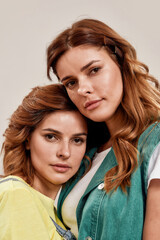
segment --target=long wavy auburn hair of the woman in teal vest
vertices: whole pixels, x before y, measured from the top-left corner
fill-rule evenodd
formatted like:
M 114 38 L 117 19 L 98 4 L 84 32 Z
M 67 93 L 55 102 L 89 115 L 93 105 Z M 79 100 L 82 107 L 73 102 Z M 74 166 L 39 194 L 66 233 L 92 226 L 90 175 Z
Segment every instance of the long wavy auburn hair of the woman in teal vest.
M 123 191 L 130 186 L 130 177 L 138 166 L 137 142 L 140 134 L 159 121 L 160 86 L 149 74 L 148 67 L 137 60 L 134 47 L 113 29 L 95 19 L 75 22 L 60 33 L 47 49 L 47 75 L 57 75 L 56 64 L 70 48 L 80 45 L 103 47 L 119 66 L 123 79 L 123 99 L 117 111 L 121 127 L 112 137 L 118 165 L 105 176 L 105 190 Z M 57 75 L 58 77 L 58 75 Z

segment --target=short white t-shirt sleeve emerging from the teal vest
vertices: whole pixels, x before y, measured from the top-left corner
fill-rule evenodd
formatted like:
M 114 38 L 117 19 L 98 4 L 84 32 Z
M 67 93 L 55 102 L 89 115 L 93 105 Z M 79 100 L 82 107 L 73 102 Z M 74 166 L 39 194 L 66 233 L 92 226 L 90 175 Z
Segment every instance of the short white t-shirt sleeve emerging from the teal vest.
M 148 166 L 148 187 L 152 179 L 160 179 L 160 143 L 155 148 Z

